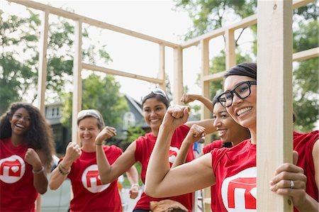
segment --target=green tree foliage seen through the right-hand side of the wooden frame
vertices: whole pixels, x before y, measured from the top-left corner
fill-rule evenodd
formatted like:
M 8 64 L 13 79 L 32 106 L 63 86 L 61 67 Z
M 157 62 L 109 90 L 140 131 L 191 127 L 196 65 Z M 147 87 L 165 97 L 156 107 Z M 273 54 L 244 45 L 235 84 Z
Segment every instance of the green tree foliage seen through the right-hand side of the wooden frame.
M 189 13 L 194 26 L 189 29 L 185 39 L 211 32 L 216 28 L 237 22 L 235 18 L 245 18 L 256 12 L 257 1 L 239 0 L 175 0 L 176 9 Z M 318 47 L 318 14 L 316 2 L 310 3 L 293 13 L 293 52 Z M 257 28 L 251 26 L 253 37 L 252 55 L 257 54 Z M 245 29 L 242 29 L 245 30 Z M 240 33 L 241 35 L 241 33 Z M 252 61 L 250 55 L 242 54 L 236 40 L 236 62 Z M 211 58 L 211 74 L 225 70 L 225 52 Z M 311 77 L 310 77 L 311 76 Z M 198 82 L 200 80 L 198 76 Z M 318 121 L 318 57 L 298 62 L 293 70 L 293 111 L 296 113 L 296 130 L 313 130 Z M 211 98 L 220 91 L 223 82 L 211 82 Z

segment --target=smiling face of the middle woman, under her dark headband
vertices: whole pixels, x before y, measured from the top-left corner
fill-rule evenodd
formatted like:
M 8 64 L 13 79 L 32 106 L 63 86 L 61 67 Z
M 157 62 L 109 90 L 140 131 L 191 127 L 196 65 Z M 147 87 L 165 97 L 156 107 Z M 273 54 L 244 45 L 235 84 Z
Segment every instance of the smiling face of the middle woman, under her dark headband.
M 144 119 L 150 125 L 152 133 L 157 136 L 159 125 L 162 124 L 164 115 L 167 111 L 165 104 L 156 98 L 150 98 L 143 104 Z

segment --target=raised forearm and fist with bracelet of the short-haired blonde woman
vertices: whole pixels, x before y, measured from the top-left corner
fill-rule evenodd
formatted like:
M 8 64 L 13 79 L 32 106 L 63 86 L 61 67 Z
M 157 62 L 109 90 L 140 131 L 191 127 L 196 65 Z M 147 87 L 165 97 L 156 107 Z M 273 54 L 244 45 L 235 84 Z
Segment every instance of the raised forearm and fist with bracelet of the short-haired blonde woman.
M 75 160 L 81 156 L 82 152 L 79 145 L 70 142 L 67 145 L 67 150 L 65 151 L 65 157 L 63 160 L 57 164 L 57 167 L 52 171 L 49 186 L 50 189 L 56 190 L 60 187 L 62 182 L 67 178 L 67 174 L 71 171 L 71 166 Z

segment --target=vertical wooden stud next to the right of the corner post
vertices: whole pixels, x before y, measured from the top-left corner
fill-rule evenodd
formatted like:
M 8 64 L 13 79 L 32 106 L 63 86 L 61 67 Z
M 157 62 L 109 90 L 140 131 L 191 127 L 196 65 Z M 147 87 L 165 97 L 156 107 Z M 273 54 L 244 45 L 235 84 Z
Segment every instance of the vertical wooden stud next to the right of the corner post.
M 201 40 L 200 43 L 201 49 L 201 79 L 209 74 L 209 40 Z M 210 82 L 201 80 L 201 91 L 203 96 L 209 98 Z M 212 111 L 209 111 L 206 106 L 201 104 L 201 119 L 209 118 Z M 205 145 L 211 143 L 211 136 L 205 137 Z M 203 189 L 203 211 L 211 211 L 211 187 Z

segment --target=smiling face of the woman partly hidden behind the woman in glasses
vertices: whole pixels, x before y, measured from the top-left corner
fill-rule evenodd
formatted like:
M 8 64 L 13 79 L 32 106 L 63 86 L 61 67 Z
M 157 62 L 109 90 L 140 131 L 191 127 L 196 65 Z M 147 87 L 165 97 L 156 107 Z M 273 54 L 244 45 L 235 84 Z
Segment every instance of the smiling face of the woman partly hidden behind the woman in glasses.
M 220 140 L 223 143 L 232 142 L 234 145 L 240 143 L 242 140 L 249 138 L 249 131 L 247 128 L 237 124 L 233 118 L 228 114 L 219 102 L 213 108 L 213 125 L 218 131 Z

